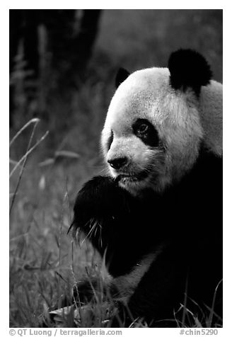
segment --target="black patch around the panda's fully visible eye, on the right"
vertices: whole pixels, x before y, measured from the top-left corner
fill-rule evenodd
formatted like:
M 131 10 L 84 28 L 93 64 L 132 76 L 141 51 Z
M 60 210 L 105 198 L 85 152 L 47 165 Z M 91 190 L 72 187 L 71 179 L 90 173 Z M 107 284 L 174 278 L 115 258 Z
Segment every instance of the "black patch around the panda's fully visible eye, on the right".
M 149 145 L 150 147 L 157 147 L 159 143 L 158 132 L 153 127 L 151 122 L 146 119 L 139 118 L 132 125 L 134 135 L 139 137 L 144 144 Z

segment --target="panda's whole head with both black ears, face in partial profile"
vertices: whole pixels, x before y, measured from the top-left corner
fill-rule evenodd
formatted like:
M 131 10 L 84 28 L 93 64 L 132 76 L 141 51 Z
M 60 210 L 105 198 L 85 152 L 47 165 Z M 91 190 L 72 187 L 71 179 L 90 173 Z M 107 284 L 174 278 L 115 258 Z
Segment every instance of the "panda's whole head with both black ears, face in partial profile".
M 199 95 L 210 79 L 209 65 L 192 50 L 173 52 L 168 68 L 120 70 L 101 144 L 121 187 L 162 192 L 190 171 L 204 134 Z

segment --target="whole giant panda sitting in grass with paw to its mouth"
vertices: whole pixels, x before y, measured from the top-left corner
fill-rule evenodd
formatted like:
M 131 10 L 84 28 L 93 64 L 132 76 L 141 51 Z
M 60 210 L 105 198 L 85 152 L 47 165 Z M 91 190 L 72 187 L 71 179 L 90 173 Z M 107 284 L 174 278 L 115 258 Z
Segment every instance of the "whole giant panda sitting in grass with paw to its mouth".
M 180 307 L 222 324 L 222 84 L 211 76 L 194 50 L 116 76 L 101 135 L 108 174 L 83 185 L 71 224 L 103 258 L 112 326 L 178 326 Z

